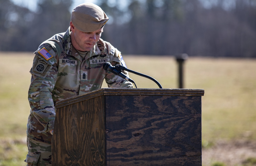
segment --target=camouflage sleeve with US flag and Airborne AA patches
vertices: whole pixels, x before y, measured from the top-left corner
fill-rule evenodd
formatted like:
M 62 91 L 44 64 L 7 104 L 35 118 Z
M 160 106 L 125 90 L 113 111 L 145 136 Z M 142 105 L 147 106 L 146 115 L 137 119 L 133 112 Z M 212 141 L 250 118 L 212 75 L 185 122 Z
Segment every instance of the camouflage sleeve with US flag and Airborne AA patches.
M 35 52 L 33 66 L 30 70 L 32 76 L 28 100 L 33 115 L 45 127 L 44 132 L 48 132 L 54 127 L 55 107 L 51 92 L 55 86 L 58 70 L 56 54 L 52 48 L 45 46 L 52 56 L 48 60 L 38 52 L 40 49 Z

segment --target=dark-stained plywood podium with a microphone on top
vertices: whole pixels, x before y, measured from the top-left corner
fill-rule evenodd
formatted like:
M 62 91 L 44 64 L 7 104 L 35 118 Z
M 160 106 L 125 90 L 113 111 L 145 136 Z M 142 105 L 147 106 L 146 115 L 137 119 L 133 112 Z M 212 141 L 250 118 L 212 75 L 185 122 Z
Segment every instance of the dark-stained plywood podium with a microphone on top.
M 102 88 L 59 101 L 52 165 L 201 165 L 203 95 Z

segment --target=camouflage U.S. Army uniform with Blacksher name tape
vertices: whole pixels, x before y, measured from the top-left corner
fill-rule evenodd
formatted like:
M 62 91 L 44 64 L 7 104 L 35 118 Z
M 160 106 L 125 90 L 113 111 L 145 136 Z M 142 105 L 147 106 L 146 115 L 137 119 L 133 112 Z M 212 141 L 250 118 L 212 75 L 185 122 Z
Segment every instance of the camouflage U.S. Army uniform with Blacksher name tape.
M 43 42 L 34 54 L 28 92 L 31 107 L 27 124 L 29 153 L 25 160 L 28 165 L 29 162 L 30 165 L 37 163 L 40 156 L 37 149 L 42 149 L 41 152 L 51 149 L 48 146 L 52 139 L 49 131 L 54 128 L 57 101 L 97 90 L 101 88 L 104 79 L 109 87 L 133 87 L 129 81 L 102 68 L 105 62 L 110 62 L 113 66 L 125 65 L 116 48 L 100 39 L 93 50 L 82 58 L 71 44 L 70 27 L 67 32 L 54 35 Z M 31 143 L 41 148 L 32 147 Z M 48 155 L 44 160 L 51 165 L 51 156 Z

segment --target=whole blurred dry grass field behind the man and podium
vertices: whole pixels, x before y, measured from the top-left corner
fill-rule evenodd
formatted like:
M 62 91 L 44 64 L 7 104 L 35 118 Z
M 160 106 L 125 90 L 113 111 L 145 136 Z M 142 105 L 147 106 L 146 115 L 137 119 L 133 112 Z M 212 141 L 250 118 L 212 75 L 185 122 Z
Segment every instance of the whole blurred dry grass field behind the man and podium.
M 123 57 L 129 69 L 152 76 L 163 88 L 178 88 L 174 57 Z M 23 166 L 27 154 L 27 92 L 33 53 L 0 52 L 0 58 L 0 166 Z M 255 71 L 255 59 L 189 58 L 184 63 L 184 88 L 205 90 L 203 148 L 211 148 L 219 140 L 230 143 L 256 140 Z M 138 88 L 158 88 L 144 77 L 130 73 L 130 78 Z M 215 161 L 205 165 L 217 164 L 228 165 Z

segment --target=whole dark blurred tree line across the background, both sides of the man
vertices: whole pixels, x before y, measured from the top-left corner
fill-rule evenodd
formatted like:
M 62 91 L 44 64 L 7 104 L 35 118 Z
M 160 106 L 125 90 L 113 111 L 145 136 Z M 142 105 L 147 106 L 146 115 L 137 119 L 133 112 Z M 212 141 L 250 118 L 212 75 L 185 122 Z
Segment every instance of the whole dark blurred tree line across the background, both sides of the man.
M 256 0 L 228 1 L 205 7 L 202 0 L 98 0 L 110 17 L 102 38 L 123 54 L 256 57 Z M 0 0 L 0 50 L 35 51 L 65 32 L 72 3 L 38 0 L 30 11 Z

